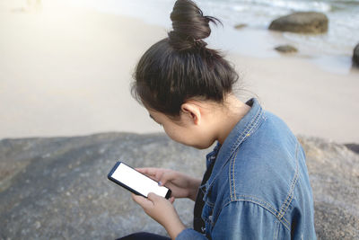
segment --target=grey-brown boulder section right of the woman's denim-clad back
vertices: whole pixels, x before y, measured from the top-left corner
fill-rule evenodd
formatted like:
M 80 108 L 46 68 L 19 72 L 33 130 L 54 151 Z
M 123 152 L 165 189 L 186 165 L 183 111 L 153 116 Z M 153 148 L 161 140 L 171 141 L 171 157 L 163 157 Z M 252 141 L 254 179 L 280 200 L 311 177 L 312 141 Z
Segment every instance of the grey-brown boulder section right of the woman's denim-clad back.
M 318 239 L 358 239 L 359 155 L 321 138 L 299 139 L 307 156 Z

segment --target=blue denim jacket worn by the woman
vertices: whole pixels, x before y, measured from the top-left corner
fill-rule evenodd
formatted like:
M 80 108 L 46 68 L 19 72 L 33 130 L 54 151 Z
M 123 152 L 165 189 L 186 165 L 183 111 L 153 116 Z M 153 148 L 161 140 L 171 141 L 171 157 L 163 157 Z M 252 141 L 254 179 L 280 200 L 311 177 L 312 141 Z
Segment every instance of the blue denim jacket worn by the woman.
M 301 144 L 256 99 L 247 104 L 251 110 L 215 148 L 213 172 L 200 186 L 206 235 L 187 228 L 176 239 L 316 239 Z

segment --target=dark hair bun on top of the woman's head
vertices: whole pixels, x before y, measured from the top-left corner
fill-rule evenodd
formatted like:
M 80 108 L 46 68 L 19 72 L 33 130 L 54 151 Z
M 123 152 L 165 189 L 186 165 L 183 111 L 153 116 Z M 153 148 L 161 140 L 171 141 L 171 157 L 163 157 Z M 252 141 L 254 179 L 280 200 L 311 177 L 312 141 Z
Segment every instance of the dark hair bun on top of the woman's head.
M 206 39 L 211 34 L 209 22 L 220 22 L 215 17 L 204 16 L 197 4 L 190 0 L 177 0 L 171 13 L 173 31 L 169 32 L 173 48 L 184 50 L 206 47 Z

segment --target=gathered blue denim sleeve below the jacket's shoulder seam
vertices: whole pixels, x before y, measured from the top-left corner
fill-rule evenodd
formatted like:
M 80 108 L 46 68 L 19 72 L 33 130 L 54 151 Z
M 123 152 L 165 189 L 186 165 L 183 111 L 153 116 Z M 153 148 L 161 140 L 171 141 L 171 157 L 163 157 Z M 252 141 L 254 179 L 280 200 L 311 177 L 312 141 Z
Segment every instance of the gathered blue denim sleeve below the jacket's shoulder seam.
M 267 209 L 250 201 L 233 201 L 223 207 L 212 239 L 281 239 L 280 222 Z

